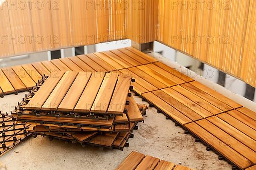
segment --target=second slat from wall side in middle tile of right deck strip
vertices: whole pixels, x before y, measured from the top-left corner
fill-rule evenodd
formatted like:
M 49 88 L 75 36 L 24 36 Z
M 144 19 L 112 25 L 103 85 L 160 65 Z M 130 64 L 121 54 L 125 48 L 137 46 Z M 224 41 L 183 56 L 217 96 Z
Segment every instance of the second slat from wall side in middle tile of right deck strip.
M 200 90 L 199 88 L 196 88 L 195 86 L 191 85 L 190 83 L 186 83 L 181 86 L 183 88 L 186 88 L 187 90 L 191 91 L 192 93 L 198 95 L 202 99 L 210 101 L 212 105 L 215 105 L 217 108 L 220 108 L 222 111 L 230 111 L 233 109 L 229 105 L 226 105 L 224 102 L 221 102 L 220 100 L 215 99 L 214 97 L 210 96 L 209 94 L 205 93 L 204 91 Z

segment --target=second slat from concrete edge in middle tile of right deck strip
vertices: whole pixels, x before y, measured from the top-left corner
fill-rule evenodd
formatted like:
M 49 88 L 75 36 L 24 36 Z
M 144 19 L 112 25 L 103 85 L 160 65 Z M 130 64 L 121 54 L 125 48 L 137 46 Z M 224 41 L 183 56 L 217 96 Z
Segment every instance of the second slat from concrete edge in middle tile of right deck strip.
M 198 113 L 195 113 L 194 111 L 186 107 L 186 105 L 183 105 L 182 103 L 172 98 L 165 92 L 158 90 L 158 91 L 153 91 L 152 93 L 158 96 L 160 99 L 162 99 L 166 103 L 168 103 L 169 105 L 171 105 L 173 108 L 177 109 L 177 111 L 179 111 L 180 113 L 183 113 L 185 116 L 189 117 L 191 120 L 196 121 L 199 119 L 203 119 L 203 117 L 200 116 Z

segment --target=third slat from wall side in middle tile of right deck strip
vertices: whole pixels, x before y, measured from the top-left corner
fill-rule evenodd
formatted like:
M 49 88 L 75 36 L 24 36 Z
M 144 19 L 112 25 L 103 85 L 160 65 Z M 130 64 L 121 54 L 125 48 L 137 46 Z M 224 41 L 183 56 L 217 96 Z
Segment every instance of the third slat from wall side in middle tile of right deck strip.
M 179 92 L 180 94 L 182 94 L 186 98 L 190 99 L 191 101 L 197 103 L 202 108 L 211 112 L 212 114 L 218 114 L 218 113 L 224 112 L 221 109 L 217 108 L 215 105 L 212 105 L 211 103 L 209 103 L 206 100 L 200 98 L 199 96 L 193 94 L 192 92 L 186 90 L 186 88 L 183 88 L 180 85 L 176 85 L 176 86 L 173 86 L 171 88 L 174 89 L 175 91 Z

